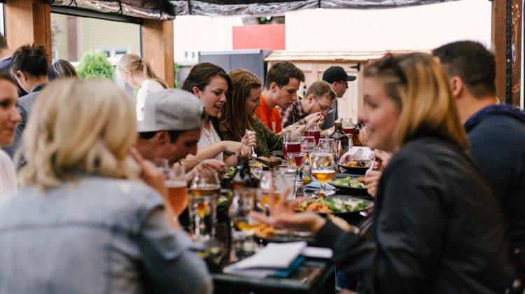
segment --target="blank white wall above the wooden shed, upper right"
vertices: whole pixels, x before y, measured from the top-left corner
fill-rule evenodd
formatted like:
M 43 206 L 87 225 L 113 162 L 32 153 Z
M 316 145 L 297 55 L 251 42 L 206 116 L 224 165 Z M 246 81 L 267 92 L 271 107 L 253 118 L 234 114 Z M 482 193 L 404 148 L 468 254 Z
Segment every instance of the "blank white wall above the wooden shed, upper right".
M 489 0 L 286 14 L 286 50 L 290 51 L 430 50 L 463 39 L 490 45 Z

